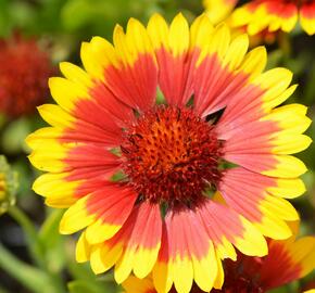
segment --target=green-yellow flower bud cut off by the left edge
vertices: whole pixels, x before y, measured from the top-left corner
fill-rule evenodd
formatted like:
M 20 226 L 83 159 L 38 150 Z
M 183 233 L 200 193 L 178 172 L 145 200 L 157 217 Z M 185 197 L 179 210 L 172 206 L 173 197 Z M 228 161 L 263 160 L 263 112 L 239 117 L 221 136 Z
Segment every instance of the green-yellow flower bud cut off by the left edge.
M 17 175 L 9 166 L 5 157 L 0 155 L 0 215 L 15 203 Z

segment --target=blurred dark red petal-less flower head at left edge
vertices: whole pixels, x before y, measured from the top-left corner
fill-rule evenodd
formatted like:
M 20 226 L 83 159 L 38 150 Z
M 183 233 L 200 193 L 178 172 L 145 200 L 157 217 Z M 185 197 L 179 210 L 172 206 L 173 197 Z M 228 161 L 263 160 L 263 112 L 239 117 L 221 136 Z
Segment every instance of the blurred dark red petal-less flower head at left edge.
M 11 118 L 34 113 L 49 94 L 53 71 L 48 53 L 15 34 L 0 40 L 0 113 Z

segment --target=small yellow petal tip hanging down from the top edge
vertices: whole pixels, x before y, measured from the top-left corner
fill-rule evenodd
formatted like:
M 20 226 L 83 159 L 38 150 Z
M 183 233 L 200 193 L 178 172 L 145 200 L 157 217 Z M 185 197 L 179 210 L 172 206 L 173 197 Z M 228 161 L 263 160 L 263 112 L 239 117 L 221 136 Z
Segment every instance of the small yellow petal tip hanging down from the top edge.
M 225 21 L 237 4 L 237 0 L 203 0 L 203 7 L 213 24 Z

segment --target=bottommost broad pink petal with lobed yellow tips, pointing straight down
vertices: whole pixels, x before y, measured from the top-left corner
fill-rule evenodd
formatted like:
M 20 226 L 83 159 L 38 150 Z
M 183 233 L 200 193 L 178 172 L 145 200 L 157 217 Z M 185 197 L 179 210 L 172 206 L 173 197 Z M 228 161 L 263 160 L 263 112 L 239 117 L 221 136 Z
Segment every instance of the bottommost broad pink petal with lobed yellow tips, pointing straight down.
M 187 208 L 169 212 L 153 270 L 158 292 L 168 292 L 173 283 L 177 292 L 190 292 L 193 280 L 201 290 L 210 291 L 216 276 L 214 246 L 199 216 Z

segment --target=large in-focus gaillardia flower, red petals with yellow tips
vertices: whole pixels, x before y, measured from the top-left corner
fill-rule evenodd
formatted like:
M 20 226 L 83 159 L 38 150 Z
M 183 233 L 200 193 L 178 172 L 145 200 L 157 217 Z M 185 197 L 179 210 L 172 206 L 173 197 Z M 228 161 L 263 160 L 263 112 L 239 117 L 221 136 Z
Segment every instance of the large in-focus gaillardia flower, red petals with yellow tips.
M 122 283 L 152 271 L 159 292 L 189 292 L 193 280 L 210 291 L 234 246 L 262 256 L 263 235 L 290 237 L 285 220 L 298 214 L 282 196 L 304 192 L 305 165 L 290 154 L 311 142 L 306 109 L 274 109 L 294 91 L 292 74 L 262 73 L 265 49 L 247 53 L 247 36 L 231 39 L 206 15 L 191 28 L 181 14 L 147 28 L 131 18 L 113 42 L 83 43 L 85 71 L 62 63 L 65 78 L 50 79 L 59 105 L 39 112 L 52 127 L 27 139 L 48 171 L 34 189 L 68 207 L 62 233 L 85 229 L 76 256 L 96 273 L 115 266 Z

